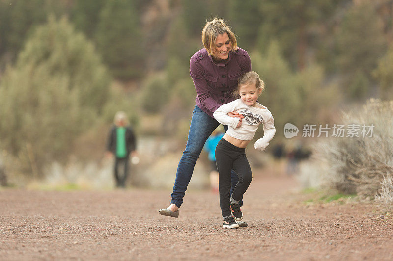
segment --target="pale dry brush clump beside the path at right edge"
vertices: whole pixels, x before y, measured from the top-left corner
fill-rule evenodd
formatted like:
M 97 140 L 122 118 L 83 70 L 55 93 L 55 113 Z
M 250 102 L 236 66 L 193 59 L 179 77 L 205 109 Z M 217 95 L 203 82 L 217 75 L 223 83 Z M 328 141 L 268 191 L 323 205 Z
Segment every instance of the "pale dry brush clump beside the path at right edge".
M 343 114 L 342 124 L 346 128 L 350 124 L 373 124 L 372 137 L 347 137 L 345 132 L 341 138 L 320 140 L 314 148 L 315 158 L 328 165 L 329 171 L 325 175 L 331 188 L 342 193 L 374 197 L 383 190 L 381 183 L 389 187 L 391 180 L 388 177 L 393 174 L 392 115 L 393 101 L 368 100 L 363 107 Z M 384 191 L 393 197 L 393 189 Z M 388 196 L 384 193 L 384 197 Z

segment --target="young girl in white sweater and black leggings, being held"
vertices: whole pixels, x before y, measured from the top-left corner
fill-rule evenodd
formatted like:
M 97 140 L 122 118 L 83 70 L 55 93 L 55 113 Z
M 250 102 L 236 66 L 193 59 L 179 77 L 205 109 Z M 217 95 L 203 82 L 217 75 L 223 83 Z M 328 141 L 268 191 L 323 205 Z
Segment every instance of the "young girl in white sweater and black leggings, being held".
M 250 164 L 245 154 L 246 146 L 253 139 L 260 123 L 263 123 L 264 135 L 255 142 L 255 149 L 265 150 L 276 133 L 272 114 L 256 101 L 263 89 L 264 83 L 257 73 L 245 73 L 238 80 L 236 95 L 240 95 L 240 99 L 220 106 L 213 114 L 218 122 L 228 125 L 228 130 L 216 148 L 223 228 L 238 228 L 236 221 L 243 219 L 239 201 L 252 180 Z M 244 118 L 228 116 L 227 113 L 232 111 L 242 114 Z M 232 168 L 239 175 L 239 182 L 232 196 L 229 196 Z

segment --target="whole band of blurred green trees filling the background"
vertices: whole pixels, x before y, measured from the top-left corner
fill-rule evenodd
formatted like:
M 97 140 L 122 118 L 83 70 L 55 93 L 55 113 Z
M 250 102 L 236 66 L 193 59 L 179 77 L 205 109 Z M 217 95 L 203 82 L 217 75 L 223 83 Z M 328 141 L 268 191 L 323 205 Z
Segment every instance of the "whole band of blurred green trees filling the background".
M 37 172 L 67 152 L 64 140 L 120 109 L 134 121 L 168 111 L 168 133 L 186 126 L 190 57 L 215 16 L 264 79 L 260 101 L 278 130 L 317 122 L 342 94 L 358 102 L 380 87 L 393 98 L 390 0 L 0 0 L 1 146 Z

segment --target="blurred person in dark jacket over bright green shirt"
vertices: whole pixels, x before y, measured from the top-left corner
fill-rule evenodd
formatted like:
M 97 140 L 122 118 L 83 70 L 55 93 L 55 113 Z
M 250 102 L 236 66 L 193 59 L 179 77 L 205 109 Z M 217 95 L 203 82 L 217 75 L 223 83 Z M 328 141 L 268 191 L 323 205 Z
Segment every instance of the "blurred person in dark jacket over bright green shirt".
M 136 157 L 136 140 L 134 131 L 129 125 L 127 114 L 124 111 L 116 112 L 114 116 L 107 145 L 107 157 L 114 156 L 114 177 L 116 187 L 125 187 L 128 177 L 130 155 Z M 122 169 L 122 173 L 119 173 Z

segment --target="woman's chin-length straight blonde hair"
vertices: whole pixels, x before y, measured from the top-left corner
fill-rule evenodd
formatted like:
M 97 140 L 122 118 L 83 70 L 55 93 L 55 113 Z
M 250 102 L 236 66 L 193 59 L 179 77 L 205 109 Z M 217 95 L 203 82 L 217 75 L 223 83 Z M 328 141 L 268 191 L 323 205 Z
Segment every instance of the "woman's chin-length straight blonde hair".
M 227 33 L 229 37 L 229 42 L 231 49 L 232 50 L 237 50 L 237 41 L 236 41 L 236 36 L 235 34 L 231 31 L 229 26 L 225 24 L 223 19 L 220 18 L 213 18 L 209 22 L 206 23 L 205 27 L 203 27 L 202 30 L 202 43 L 203 46 L 206 48 L 207 52 L 215 56 L 215 50 L 216 50 L 216 40 L 217 36 L 219 34 L 224 34 Z

